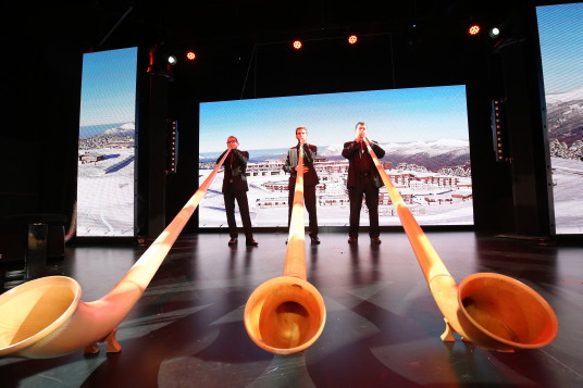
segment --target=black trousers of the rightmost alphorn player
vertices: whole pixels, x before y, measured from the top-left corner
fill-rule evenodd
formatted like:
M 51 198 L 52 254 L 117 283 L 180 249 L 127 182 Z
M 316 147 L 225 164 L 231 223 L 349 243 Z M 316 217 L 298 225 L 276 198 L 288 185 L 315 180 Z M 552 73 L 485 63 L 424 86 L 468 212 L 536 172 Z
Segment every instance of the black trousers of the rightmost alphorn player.
M 362 177 L 357 187 L 348 189 L 348 198 L 350 199 L 350 227 L 348 235 L 358 238 L 358 229 L 360 227 L 360 210 L 362 209 L 362 197 L 369 208 L 369 236 L 371 238 L 379 237 L 379 188 L 374 186 L 373 179 Z

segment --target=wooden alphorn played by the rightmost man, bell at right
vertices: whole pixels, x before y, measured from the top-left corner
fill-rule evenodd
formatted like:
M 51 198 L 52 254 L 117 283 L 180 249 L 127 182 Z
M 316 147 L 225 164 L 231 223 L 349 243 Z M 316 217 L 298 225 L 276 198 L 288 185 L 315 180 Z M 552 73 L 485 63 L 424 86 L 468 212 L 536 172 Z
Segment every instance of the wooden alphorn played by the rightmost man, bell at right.
M 444 315 L 442 340 L 466 341 L 491 350 L 534 349 L 550 343 L 558 331 L 553 308 L 535 290 L 511 277 L 475 273 L 459 286 L 393 186 L 371 145 L 367 149 L 397 210 L 430 291 Z

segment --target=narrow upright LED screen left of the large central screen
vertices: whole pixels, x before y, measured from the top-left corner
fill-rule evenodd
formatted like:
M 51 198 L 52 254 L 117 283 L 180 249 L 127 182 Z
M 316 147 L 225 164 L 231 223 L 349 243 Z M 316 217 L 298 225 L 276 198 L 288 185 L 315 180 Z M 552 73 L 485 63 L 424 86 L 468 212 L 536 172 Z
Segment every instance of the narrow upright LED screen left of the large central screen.
M 136 66 L 136 48 L 84 54 L 77 236 L 135 235 Z

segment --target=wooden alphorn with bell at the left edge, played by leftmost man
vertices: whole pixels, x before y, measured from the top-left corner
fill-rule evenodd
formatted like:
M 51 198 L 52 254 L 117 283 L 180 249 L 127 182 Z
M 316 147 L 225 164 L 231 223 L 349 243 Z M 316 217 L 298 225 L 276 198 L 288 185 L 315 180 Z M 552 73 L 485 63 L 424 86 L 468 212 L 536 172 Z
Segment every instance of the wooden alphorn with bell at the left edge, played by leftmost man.
M 80 301 L 77 281 L 65 276 L 47 276 L 27 281 L 0 296 L 0 356 L 47 359 L 84 349 L 119 352 L 115 331 L 162 264 L 174 241 L 191 217 L 227 150 L 212 173 L 125 276 L 103 298 Z

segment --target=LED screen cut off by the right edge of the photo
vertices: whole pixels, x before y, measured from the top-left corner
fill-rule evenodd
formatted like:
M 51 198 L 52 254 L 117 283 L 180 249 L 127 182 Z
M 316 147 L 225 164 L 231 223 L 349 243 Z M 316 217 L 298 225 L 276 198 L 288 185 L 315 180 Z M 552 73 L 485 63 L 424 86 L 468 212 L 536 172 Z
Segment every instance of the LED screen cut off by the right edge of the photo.
M 557 234 L 583 233 L 583 3 L 536 8 Z

